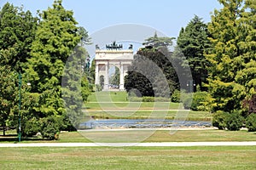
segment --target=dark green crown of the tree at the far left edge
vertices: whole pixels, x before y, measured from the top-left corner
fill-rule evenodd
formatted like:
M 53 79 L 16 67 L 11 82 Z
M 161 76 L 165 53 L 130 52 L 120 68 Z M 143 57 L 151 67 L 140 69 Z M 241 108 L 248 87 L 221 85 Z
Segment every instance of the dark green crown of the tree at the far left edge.
M 20 70 L 30 58 L 37 18 L 30 11 L 6 3 L 0 11 L 0 63 L 12 71 Z

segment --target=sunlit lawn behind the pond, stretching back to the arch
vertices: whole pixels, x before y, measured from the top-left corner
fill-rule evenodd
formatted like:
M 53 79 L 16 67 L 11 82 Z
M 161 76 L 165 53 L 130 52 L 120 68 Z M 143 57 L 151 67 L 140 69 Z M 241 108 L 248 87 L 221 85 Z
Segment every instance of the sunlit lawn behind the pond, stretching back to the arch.
M 97 97 L 96 97 L 97 96 Z M 110 96 L 111 101 L 109 101 Z M 87 116 L 98 119 L 147 119 L 158 116 L 166 119 L 184 119 L 188 121 L 212 121 L 212 114 L 207 111 L 172 111 L 183 105 L 172 102 L 128 102 L 125 92 L 98 92 L 89 96 L 89 102 L 84 105 Z M 98 98 L 98 99 L 97 99 Z M 99 101 L 100 99 L 100 102 Z M 168 111 L 169 110 L 169 111 Z M 154 112 L 152 112 L 154 111 Z

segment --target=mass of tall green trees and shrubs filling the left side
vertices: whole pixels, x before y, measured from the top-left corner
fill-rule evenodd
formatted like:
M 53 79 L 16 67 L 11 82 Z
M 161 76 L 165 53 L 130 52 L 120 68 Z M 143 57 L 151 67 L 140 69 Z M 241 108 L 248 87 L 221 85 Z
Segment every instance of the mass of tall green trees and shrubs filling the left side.
M 83 101 L 92 89 L 87 78 L 90 74 L 83 71 L 88 69 L 83 67 L 88 56 L 83 48 L 86 43 L 90 43 L 88 32 L 78 26 L 73 12 L 63 8 L 61 0 L 37 16 L 10 3 L 1 8 L 3 133 L 5 126 L 18 126 L 19 94 L 22 136 L 40 132 L 44 138 L 55 139 L 61 130 L 73 130 L 78 125 L 72 116 L 82 114 Z

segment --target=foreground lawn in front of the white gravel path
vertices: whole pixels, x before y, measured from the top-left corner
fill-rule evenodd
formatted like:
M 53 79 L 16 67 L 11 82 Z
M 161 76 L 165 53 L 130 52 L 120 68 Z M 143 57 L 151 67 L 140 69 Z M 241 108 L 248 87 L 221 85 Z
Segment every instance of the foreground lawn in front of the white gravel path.
M 254 169 L 256 146 L 1 148 L 1 169 Z

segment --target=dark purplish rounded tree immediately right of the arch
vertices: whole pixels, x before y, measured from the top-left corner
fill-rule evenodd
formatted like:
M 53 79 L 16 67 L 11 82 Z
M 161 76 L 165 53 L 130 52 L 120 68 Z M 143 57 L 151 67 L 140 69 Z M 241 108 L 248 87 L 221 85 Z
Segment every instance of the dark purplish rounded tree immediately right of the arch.
M 172 44 L 172 39 L 157 37 L 155 34 L 145 40 L 144 44 L 151 45 L 152 48 L 146 46 L 134 56 L 125 77 L 126 91 L 137 88 L 142 96 L 168 98 L 179 87 L 177 74 L 170 60 L 172 54 L 167 48 L 168 44 Z

